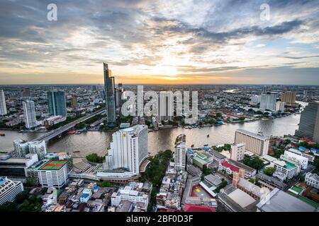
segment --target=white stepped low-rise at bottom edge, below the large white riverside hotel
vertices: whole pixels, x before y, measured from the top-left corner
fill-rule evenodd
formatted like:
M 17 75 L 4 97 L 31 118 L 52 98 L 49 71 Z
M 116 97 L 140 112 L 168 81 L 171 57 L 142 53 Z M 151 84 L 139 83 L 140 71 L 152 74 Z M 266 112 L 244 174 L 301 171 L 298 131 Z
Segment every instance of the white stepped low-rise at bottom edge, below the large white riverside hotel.
M 142 210 L 146 211 L 148 206 L 148 196 L 144 192 L 136 191 L 132 186 L 125 186 L 118 189 L 117 192 L 113 192 L 111 196 L 111 205 L 118 207 L 121 201 L 130 201 L 135 205 L 137 203 L 143 203 Z

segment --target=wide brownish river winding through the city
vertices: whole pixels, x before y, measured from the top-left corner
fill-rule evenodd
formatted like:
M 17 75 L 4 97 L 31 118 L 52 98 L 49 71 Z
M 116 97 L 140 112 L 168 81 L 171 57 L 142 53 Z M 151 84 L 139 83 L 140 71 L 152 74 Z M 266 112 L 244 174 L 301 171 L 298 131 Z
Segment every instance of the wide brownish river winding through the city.
M 300 114 L 291 114 L 289 117 L 269 119 L 267 121 L 252 121 L 238 124 L 225 124 L 195 129 L 181 127 L 161 129 L 148 133 L 148 151 L 155 155 L 159 150 L 173 149 L 174 141 L 180 133 L 186 134 L 186 144 L 190 147 L 233 143 L 236 129 L 245 129 L 257 133 L 262 131 L 265 136 L 283 136 L 295 133 L 298 129 Z M 273 122 L 274 121 L 274 122 Z M 41 133 L 18 133 L 17 131 L 0 131 L 6 136 L 0 136 L 0 151 L 13 150 L 13 141 L 18 138 L 32 140 Z M 207 135 L 209 134 L 209 137 Z M 86 156 L 89 153 L 105 155 L 112 132 L 88 131 L 81 134 L 65 134 L 62 138 L 55 138 L 47 143 L 50 152 L 67 152 L 74 156 Z M 74 151 L 76 153 L 74 153 Z

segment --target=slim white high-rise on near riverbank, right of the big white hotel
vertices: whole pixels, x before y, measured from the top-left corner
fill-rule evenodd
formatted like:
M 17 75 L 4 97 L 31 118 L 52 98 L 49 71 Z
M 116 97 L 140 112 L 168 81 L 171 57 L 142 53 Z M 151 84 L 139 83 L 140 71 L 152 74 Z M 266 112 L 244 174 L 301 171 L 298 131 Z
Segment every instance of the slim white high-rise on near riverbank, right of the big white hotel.
M 186 167 L 186 135 L 181 134 L 177 137 L 174 152 L 174 167 L 177 171 L 185 170 Z

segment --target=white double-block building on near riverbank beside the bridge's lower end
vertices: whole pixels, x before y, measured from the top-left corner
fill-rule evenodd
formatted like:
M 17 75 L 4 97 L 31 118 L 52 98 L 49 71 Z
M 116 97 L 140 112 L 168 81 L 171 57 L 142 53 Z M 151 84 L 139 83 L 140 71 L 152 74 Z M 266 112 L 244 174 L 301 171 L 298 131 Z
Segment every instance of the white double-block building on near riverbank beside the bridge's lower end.
M 16 157 L 26 157 L 28 153 L 37 154 L 39 160 L 43 160 L 47 154 L 45 141 L 26 142 L 23 140 L 13 141 L 14 155 Z

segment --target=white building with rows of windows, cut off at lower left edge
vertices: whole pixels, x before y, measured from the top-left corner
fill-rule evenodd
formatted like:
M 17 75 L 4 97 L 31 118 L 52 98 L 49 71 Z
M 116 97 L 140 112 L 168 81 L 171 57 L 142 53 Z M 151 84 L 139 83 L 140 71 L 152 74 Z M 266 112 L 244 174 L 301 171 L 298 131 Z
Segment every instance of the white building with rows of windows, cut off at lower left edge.
M 7 177 L 0 177 L 0 205 L 13 202 L 16 195 L 23 191 L 21 182 L 11 181 Z

